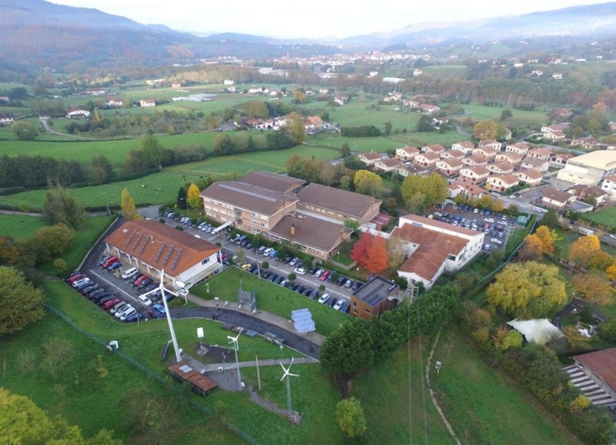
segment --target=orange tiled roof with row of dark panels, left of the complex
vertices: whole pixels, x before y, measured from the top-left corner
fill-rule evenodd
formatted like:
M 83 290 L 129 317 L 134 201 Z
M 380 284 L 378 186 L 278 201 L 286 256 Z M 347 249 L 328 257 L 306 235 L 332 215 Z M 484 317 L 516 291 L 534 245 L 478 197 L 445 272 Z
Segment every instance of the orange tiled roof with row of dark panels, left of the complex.
M 150 266 L 164 269 L 171 276 L 179 275 L 221 250 L 205 239 L 154 220 L 127 221 L 107 236 L 105 243 Z

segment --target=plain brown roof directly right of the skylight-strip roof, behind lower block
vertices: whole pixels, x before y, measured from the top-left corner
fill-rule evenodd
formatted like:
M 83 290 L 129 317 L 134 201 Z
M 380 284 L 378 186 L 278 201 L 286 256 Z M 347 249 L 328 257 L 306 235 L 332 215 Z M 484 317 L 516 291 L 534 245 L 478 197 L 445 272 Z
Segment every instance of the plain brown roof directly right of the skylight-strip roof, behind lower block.
M 357 218 L 363 218 L 374 202 L 381 203 L 379 199 L 365 194 L 340 190 L 315 182 L 302 188 L 298 193 L 298 198 L 302 204 L 322 207 Z

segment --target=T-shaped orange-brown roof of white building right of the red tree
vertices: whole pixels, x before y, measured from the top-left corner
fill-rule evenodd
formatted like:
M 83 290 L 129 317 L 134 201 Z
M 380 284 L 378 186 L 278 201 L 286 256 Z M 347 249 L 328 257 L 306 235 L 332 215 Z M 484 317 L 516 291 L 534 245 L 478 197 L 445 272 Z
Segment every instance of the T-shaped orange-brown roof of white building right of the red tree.
M 474 235 L 477 235 L 477 233 L 474 233 Z M 460 254 L 468 243 L 468 239 L 416 227 L 408 223 L 402 227 L 394 228 L 391 236 L 397 236 L 409 243 L 419 244 L 416 251 L 402 264 L 400 271 L 416 273 L 428 281 L 432 281 L 434 275 L 447 260 L 447 255 Z

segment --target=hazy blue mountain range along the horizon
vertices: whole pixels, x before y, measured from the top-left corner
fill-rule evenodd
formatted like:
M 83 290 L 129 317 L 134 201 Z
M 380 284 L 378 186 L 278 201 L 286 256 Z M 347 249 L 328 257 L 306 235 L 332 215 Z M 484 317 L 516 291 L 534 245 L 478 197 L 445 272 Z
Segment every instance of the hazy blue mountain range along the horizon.
M 469 22 L 419 23 L 328 41 L 188 33 L 44 0 L 0 0 L 0 17 L 0 69 L 51 66 L 83 71 L 89 66 L 188 63 L 223 55 L 267 58 L 545 36 L 600 38 L 615 34 L 616 2 Z

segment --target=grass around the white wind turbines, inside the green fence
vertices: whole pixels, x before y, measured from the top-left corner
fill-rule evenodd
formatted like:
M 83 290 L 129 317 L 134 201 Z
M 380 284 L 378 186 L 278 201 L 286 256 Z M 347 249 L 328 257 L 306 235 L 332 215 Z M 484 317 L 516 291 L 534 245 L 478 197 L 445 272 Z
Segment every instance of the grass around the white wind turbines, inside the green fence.
M 157 374 L 167 375 L 164 364 L 159 360 L 160 352 L 168 340 L 166 321 L 151 320 L 140 323 L 139 326 L 117 323 L 99 308 L 84 300 L 65 283 L 47 283 L 46 291 L 54 307 L 59 308 L 68 318 L 76 321 L 88 332 L 101 339 L 118 340 L 120 348 L 126 355 L 136 359 Z M 219 323 L 208 319 L 176 320 L 174 327 L 179 345 L 186 351 L 192 350 L 197 344 L 197 327 L 204 328 L 205 343 L 226 345 L 228 341 L 228 331 L 221 329 Z M 261 338 L 241 337 L 238 355 L 240 360 L 252 360 L 255 355 L 258 355 L 259 359 L 266 359 L 298 356 L 298 353 L 288 348 L 281 350 L 272 343 L 264 342 Z M 217 407 L 219 411 L 222 411 L 220 413 L 222 417 L 240 428 L 257 443 L 341 443 L 342 433 L 332 414 L 334 405 L 339 400 L 336 385 L 330 381 L 319 364 L 295 366 L 294 371 L 302 375 L 301 379 L 296 379 L 291 385 L 293 407 L 304 413 L 304 419 L 299 427 L 292 427 L 283 416 L 267 411 L 251 402 L 246 391 L 243 393 L 227 392 L 218 388 L 206 398 L 197 395 L 190 395 L 190 397 L 209 409 Z M 147 382 L 144 379 L 145 375 L 140 371 L 133 369 L 131 372 L 136 374 L 140 381 Z M 256 372 L 250 369 L 242 372 L 246 376 L 246 383 L 253 384 L 256 380 Z M 118 381 L 123 384 L 124 379 L 120 378 Z M 280 368 L 275 370 L 275 367 L 262 367 L 261 381 L 262 393 L 272 394 L 274 401 L 285 407 L 286 387 L 280 382 Z M 179 385 L 174 381 L 171 384 L 172 387 Z M 110 406 L 117 410 L 115 404 L 110 404 Z M 203 423 L 209 422 L 203 414 L 200 414 L 200 418 Z M 215 441 L 216 438 L 212 440 Z

